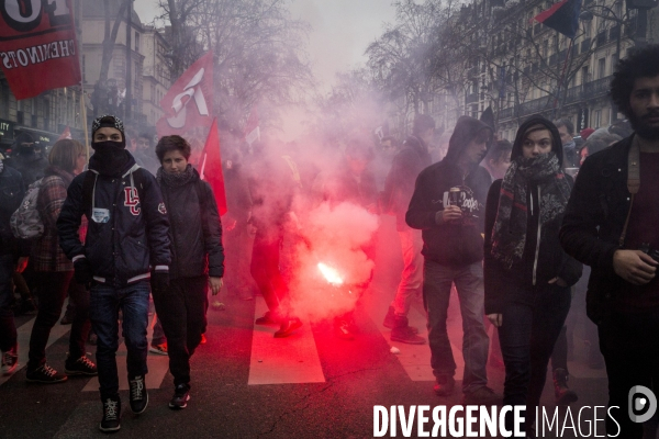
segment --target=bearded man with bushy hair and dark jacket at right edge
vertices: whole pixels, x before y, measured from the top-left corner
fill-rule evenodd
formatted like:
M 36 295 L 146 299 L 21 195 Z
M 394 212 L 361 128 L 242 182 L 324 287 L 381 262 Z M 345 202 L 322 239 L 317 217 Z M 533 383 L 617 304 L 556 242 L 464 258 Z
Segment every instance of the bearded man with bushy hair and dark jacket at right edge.
M 659 45 L 618 63 L 611 95 L 635 133 L 585 159 L 560 239 L 592 269 L 587 312 L 608 375 L 606 431 L 641 438 L 647 419 L 627 409 L 633 387 L 659 391 Z

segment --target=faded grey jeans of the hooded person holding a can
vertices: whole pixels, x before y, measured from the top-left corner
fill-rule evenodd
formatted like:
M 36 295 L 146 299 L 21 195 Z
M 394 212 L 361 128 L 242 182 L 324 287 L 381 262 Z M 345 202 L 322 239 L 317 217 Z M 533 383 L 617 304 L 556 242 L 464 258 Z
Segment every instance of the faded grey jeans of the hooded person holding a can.
M 425 260 L 423 271 L 423 299 L 428 313 L 428 342 L 431 367 L 437 378 L 453 376 L 456 362 L 446 330 L 446 318 L 451 284 L 456 284 L 462 314 L 462 357 L 465 376 L 462 392 L 471 393 L 488 384 L 485 371 L 490 339 L 483 324 L 483 267 L 449 267 Z

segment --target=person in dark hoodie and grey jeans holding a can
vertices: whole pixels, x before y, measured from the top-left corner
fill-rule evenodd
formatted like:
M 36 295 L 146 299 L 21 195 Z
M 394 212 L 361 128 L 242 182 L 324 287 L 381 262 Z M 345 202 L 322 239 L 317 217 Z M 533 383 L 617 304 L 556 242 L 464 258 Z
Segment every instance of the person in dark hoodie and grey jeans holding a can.
M 435 393 L 454 392 L 456 362 L 446 329 L 451 285 L 456 284 L 465 330 L 462 357 L 463 404 L 492 405 L 501 396 L 488 387 L 490 340 L 483 324 L 484 202 L 492 184 L 479 164 L 492 142 L 492 128 L 461 116 L 450 137 L 446 157 L 425 168 L 416 179 L 405 215 L 407 225 L 422 230 L 423 299 L 428 313 L 431 367 Z

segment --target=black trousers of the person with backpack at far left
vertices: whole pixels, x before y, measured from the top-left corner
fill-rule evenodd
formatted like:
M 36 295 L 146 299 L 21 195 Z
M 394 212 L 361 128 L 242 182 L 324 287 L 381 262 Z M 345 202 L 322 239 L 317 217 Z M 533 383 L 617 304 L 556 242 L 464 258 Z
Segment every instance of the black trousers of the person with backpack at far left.
M 46 345 L 51 329 L 59 319 L 62 306 L 68 292 L 69 300 L 76 304 L 76 318 L 69 335 L 69 358 L 85 356 L 85 341 L 89 335 L 89 292 L 72 280 L 72 271 L 37 271 L 38 313 L 30 336 L 27 369 L 35 370 L 46 362 Z

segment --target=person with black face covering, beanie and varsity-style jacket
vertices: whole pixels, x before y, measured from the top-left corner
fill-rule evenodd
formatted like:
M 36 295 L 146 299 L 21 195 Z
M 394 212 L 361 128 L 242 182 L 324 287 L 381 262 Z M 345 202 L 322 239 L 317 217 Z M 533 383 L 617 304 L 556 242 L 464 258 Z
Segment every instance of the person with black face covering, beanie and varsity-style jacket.
M 135 164 L 125 149 L 123 123 L 101 116 L 91 126 L 93 156 L 89 170 L 74 179 L 57 219 L 59 245 L 74 261 L 76 281 L 91 288 L 90 319 L 98 335 L 97 367 L 103 432 L 120 429 L 121 401 L 116 375 L 119 309 L 131 409 L 145 410 L 149 279 L 153 289 L 169 284 L 169 222 L 154 176 Z M 89 228 L 85 245 L 78 237 L 81 216 Z

